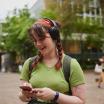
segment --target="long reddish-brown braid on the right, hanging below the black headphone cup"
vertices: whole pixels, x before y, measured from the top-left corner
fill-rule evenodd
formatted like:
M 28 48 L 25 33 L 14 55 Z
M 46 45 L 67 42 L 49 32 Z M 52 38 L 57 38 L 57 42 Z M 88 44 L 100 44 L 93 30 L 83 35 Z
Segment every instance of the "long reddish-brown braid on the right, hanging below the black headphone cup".
M 58 38 L 56 40 L 56 47 L 57 47 L 57 51 L 58 51 L 58 61 L 55 65 L 56 69 L 60 69 L 60 67 L 62 66 L 62 62 L 61 62 L 61 59 L 62 59 L 62 44 L 60 42 L 60 39 Z

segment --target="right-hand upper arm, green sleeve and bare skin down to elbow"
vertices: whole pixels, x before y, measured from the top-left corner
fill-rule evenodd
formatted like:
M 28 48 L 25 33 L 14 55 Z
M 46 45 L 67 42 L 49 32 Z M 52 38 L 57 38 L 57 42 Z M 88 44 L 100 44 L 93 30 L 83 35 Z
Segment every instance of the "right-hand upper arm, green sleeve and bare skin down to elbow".
M 70 85 L 72 95 L 78 97 L 82 102 L 85 102 L 85 76 L 80 64 L 76 59 L 71 61 L 71 76 Z

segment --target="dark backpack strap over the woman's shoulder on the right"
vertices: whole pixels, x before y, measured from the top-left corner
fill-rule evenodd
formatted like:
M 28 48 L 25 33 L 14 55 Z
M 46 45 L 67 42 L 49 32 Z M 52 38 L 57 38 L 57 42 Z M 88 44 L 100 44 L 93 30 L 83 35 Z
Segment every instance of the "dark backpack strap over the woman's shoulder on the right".
M 70 82 L 69 82 L 69 78 L 70 78 L 70 63 L 71 63 L 71 57 L 68 56 L 68 55 L 65 55 L 64 60 L 63 60 L 63 73 L 64 73 L 65 80 L 69 84 L 69 92 L 68 92 L 68 94 L 72 95 Z

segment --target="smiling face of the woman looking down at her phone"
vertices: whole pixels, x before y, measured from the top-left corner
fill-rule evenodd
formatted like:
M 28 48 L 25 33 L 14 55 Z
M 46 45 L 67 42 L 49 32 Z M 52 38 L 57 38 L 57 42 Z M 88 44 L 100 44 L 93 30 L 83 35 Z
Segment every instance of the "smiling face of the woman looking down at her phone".
M 45 38 L 40 38 L 37 35 L 33 35 L 33 41 L 36 48 L 39 49 L 43 56 L 50 55 L 55 51 L 55 42 L 52 40 L 49 33 L 45 33 Z

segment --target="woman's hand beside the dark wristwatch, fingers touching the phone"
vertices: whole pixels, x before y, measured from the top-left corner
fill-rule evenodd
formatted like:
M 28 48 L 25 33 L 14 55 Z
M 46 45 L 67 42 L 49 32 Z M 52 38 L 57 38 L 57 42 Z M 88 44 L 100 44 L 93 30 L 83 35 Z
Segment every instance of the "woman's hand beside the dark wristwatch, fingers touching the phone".
M 41 100 L 52 100 L 56 92 L 50 88 L 34 88 L 33 97 L 39 98 Z

